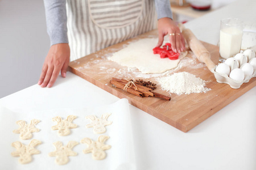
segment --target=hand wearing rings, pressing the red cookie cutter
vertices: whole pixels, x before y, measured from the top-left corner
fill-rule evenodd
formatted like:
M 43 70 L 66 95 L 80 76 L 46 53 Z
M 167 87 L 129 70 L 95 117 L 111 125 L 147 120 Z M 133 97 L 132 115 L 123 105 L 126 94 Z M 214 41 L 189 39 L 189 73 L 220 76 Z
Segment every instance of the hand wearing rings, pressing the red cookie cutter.
M 185 40 L 180 32 L 179 27 L 170 18 L 161 18 L 158 20 L 158 45 L 163 44 L 164 36 L 168 35 L 170 43 L 172 45 L 172 50 L 174 52 L 183 52 L 185 50 Z

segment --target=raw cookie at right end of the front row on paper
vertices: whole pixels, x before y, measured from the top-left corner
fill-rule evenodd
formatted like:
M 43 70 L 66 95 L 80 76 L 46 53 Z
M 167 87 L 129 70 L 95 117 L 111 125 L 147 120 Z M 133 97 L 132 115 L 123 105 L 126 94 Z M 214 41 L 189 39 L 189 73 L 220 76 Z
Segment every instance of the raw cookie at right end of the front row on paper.
M 98 137 L 98 141 L 92 141 L 90 138 L 84 138 L 81 140 L 81 143 L 86 143 L 88 145 L 83 152 L 85 154 L 88 154 L 89 152 L 92 152 L 92 158 L 96 160 L 101 160 L 106 158 L 105 150 L 108 150 L 111 148 L 110 145 L 105 145 L 105 141 L 109 139 L 106 135 L 101 135 Z

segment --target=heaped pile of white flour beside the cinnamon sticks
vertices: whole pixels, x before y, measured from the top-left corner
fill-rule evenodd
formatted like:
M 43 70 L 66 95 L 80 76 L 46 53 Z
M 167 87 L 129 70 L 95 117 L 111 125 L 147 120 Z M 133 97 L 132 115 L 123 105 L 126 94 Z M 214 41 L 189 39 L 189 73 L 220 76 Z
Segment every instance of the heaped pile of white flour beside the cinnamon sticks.
M 205 87 L 204 80 L 187 72 L 174 73 L 170 76 L 159 78 L 158 82 L 163 90 L 177 95 L 207 92 L 210 90 L 210 88 Z

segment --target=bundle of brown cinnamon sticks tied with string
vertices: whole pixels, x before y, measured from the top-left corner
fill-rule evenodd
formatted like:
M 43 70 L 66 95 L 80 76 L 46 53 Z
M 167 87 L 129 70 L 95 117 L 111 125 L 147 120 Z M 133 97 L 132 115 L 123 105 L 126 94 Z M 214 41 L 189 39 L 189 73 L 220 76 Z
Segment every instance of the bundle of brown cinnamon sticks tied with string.
M 158 94 L 156 92 L 152 92 L 151 88 L 141 86 L 136 82 L 133 82 L 133 80 L 112 78 L 112 80 L 110 80 L 110 83 L 112 84 L 113 87 L 121 88 L 122 90 L 127 91 L 130 94 L 134 94 L 139 97 L 152 96 L 152 97 L 158 97 L 160 99 L 164 99 L 168 101 L 171 100 L 171 97 Z

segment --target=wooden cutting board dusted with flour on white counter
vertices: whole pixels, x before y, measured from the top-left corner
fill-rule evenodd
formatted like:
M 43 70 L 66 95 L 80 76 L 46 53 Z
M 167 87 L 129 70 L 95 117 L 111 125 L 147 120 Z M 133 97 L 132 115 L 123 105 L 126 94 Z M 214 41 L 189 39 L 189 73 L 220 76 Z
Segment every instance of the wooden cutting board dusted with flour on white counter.
M 192 52 L 180 61 L 180 65 L 169 73 L 163 74 L 141 74 L 137 69 L 129 69 L 118 65 L 109 60 L 112 53 L 127 46 L 127 44 L 139 39 L 148 37 L 158 37 L 157 31 L 144 33 L 134 39 L 123 41 L 119 44 L 109 46 L 96 53 L 90 54 L 69 63 L 69 71 L 81 76 L 85 80 L 95 84 L 96 86 L 110 92 L 119 98 L 126 98 L 130 104 L 142 109 L 143 111 L 159 118 L 160 120 L 174 126 L 175 128 L 187 132 L 196 125 L 203 122 L 214 113 L 224 108 L 226 105 L 236 100 L 245 92 L 256 86 L 256 78 L 251 78 L 248 83 L 243 83 L 241 88 L 234 90 L 228 84 L 220 84 L 216 82 L 213 73 L 211 73 L 204 63 L 200 63 Z M 157 43 L 157 42 L 156 42 Z M 211 59 L 214 63 L 218 63 L 218 47 L 202 42 L 205 48 L 210 52 Z M 138 56 L 139 57 L 139 56 Z M 171 101 L 158 99 L 155 97 L 138 97 L 121 89 L 112 87 L 109 83 L 112 77 L 127 78 L 127 79 L 143 79 L 150 80 L 158 84 L 157 79 L 160 76 L 167 74 L 187 71 L 197 77 L 207 81 L 206 87 L 211 90 L 206 93 L 175 95 L 171 94 Z M 156 86 L 155 92 L 170 96 L 166 91 L 163 91 L 159 84 Z

